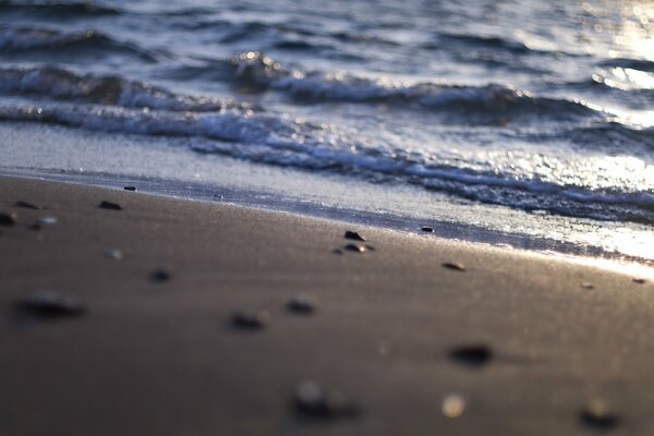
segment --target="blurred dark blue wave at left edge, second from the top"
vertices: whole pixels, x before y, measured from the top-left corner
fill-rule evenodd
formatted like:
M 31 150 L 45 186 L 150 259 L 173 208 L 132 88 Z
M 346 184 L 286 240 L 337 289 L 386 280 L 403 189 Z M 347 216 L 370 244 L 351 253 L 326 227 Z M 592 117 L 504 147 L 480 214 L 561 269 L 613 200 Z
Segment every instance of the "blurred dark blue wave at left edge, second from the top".
M 61 60 L 80 53 L 120 53 L 137 57 L 146 62 L 157 62 L 159 55 L 135 44 L 118 41 L 95 31 L 65 33 L 50 28 L 0 27 L 0 53 L 39 56 Z

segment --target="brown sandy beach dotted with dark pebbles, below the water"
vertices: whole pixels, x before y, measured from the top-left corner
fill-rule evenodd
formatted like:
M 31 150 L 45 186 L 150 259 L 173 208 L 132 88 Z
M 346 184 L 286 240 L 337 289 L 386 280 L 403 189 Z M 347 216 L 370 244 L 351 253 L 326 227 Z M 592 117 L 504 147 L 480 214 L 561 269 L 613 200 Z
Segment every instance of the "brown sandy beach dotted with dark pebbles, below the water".
M 122 186 L 0 213 L 1 435 L 654 427 L 650 277 Z

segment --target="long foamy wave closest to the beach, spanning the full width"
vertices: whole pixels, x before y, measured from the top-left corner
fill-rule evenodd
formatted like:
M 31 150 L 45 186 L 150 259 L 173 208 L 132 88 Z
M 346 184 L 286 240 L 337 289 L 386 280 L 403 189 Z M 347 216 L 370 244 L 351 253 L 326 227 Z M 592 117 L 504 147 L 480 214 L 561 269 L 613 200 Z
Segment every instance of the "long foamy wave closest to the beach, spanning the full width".
M 0 106 L 0 120 L 57 123 L 146 135 L 182 136 L 192 149 L 376 182 L 404 180 L 427 190 L 524 210 L 654 226 L 654 190 L 560 184 L 536 174 L 458 167 L 400 148 L 366 145 L 348 132 L 238 109 L 173 112 L 84 105 Z M 507 168 L 510 168 L 508 166 Z

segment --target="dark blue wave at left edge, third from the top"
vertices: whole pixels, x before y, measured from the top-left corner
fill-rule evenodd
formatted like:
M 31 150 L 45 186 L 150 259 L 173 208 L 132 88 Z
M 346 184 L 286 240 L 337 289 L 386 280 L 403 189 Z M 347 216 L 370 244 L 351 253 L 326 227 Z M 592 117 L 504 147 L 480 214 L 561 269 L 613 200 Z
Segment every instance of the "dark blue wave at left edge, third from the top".
M 55 66 L 0 69 L 0 93 L 59 101 L 81 101 L 171 111 L 219 111 L 250 107 L 231 99 L 179 95 L 119 76 L 76 74 Z

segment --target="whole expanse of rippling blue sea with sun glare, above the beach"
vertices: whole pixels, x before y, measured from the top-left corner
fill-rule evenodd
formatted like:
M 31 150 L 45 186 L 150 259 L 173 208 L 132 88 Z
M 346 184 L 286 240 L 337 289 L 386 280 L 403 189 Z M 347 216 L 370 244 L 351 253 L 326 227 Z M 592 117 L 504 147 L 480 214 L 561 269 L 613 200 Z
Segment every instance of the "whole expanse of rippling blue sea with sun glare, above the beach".
M 229 157 L 282 169 L 270 184 L 311 172 L 290 204 L 654 261 L 654 3 L 205 3 L 0 0 L 2 167 L 174 184 Z M 44 158 L 16 125 L 168 152 Z

